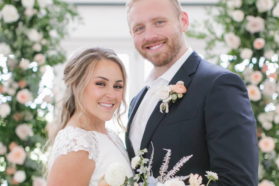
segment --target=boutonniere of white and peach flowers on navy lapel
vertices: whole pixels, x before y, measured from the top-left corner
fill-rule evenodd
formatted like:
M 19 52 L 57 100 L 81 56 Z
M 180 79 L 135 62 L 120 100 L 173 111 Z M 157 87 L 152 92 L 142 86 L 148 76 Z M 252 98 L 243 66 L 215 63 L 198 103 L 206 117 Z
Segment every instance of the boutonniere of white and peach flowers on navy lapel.
M 177 99 L 183 97 L 183 94 L 186 93 L 187 89 L 184 86 L 183 81 L 178 81 L 176 85 L 167 85 L 160 87 L 157 90 L 157 96 L 160 98 L 160 101 L 163 101 L 160 105 L 160 112 L 163 113 L 166 110 L 166 113 L 169 112 L 169 102 L 172 101 L 175 103 Z

